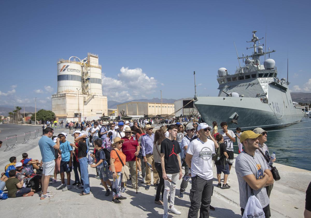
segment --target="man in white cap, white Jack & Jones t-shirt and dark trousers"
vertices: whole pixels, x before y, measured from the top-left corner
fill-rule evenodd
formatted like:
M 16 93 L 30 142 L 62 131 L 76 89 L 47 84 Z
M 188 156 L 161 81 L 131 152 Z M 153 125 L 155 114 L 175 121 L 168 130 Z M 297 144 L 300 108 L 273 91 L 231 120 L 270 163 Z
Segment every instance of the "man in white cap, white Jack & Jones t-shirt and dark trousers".
M 185 161 L 188 166 L 191 166 L 192 177 L 188 218 L 197 218 L 200 206 L 200 217 L 210 216 L 213 192 L 212 154 L 219 146 L 211 136 L 211 129 L 212 127 L 206 123 L 200 123 L 197 127 L 199 138 L 192 140 L 187 148 Z

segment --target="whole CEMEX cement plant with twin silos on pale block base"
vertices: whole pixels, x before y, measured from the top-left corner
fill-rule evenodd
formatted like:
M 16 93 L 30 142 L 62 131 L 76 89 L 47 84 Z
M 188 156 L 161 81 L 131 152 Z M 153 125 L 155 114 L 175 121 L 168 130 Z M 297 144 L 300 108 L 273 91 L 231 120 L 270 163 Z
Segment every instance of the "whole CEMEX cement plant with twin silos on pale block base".
M 85 59 L 72 56 L 57 63 L 57 93 L 52 95 L 52 111 L 56 120 L 97 120 L 107 115 L 107 97 L 103 96 L 101 65 L 98 55 Z

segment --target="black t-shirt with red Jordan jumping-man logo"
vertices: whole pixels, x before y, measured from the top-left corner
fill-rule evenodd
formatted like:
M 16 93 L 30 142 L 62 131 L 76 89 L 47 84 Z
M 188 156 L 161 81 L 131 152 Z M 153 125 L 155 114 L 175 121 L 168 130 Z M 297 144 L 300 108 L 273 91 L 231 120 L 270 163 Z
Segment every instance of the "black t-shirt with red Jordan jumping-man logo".
M 179 143 L 176 140 L 165 139 L 161 142 L 161 154 L 164 154 L 165 173 L 179 173 L 177 155 L 180 153 Z

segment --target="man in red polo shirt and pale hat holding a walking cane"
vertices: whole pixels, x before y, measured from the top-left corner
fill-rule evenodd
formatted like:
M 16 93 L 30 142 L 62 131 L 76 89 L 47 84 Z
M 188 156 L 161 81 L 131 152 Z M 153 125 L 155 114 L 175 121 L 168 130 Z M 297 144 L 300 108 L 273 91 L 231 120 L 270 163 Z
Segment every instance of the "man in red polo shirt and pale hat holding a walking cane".
M 131 127 L 125 126 L 123 132 L 125 136 L 122 138 L 124 140 L 122 144 L 122 152 L 126 156 L 126 164 L 130 168 L 132 187 L 136 189 L 136 156 L 139 153 L 138 141 L 132 136 Z M 137 187 L 139 189 L 139 187 Z

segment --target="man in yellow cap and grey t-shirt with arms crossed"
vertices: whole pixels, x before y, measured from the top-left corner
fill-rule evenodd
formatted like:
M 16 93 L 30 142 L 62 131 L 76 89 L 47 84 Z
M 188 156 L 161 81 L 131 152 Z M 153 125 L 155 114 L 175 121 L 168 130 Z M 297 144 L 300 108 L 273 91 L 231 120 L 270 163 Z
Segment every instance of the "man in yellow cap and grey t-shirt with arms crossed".
M 241 152 L 235 160 L 235 172 L 239 181 L 240 206 L 242 216 L 248 200 L 251 196 L 251 189 L 258 198 L 265 217 L 270 216 L 270 200 L 267 195 L 266 186 L 273 184 L 273 176 L 269 170 L 266 161 L 261 155 L 255 153 L 258 149 L 258 137 L 251 130 L 244 131 L 240 136 L 240 141 L 244 145 L 244 151 Z

